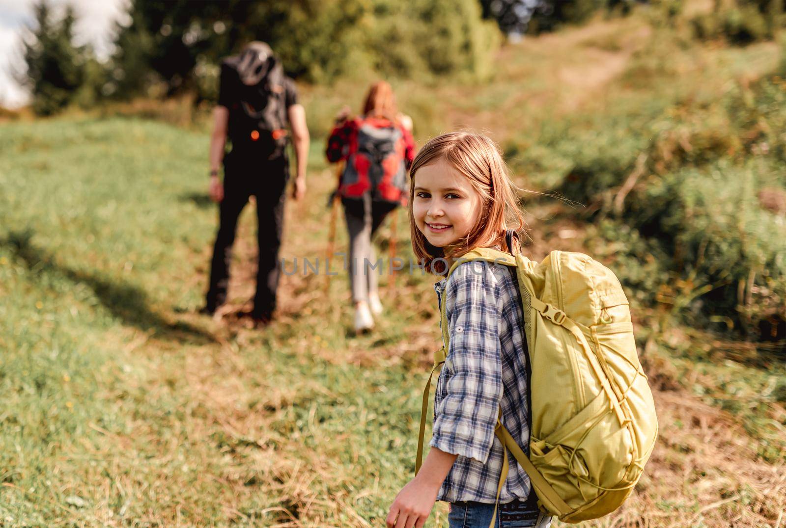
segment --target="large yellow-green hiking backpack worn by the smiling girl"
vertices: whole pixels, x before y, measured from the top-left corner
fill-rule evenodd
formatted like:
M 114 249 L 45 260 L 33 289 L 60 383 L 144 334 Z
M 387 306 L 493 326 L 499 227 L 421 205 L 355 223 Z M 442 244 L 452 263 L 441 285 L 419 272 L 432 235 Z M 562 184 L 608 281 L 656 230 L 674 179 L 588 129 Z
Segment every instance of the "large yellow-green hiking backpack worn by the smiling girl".
M 470 260 L 516 267 L 531 365 L 530 454 L 498 420 L 494 433 L 507 448 L 498 499 L 510 451 L 527 471 L 542 510 L 560 521 L 613 512 L 633 491 L 658 437 L 652 393 L 617 277 L 581 253 L 552 251 L 537 264 L 488 248 L 469 251 L 447 276 Z M 435 352 L 432 376 L 448 350 L 445 305 L 444 347 Z M 416 473 L 432 376 L 423 394 Z

